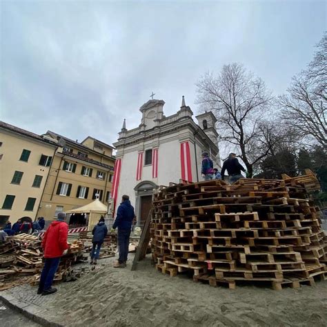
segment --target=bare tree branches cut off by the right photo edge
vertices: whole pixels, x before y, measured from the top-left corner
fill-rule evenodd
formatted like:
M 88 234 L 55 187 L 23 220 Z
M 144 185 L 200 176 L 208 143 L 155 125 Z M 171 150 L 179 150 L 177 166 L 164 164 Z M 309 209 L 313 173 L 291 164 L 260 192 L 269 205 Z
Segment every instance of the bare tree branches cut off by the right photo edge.
M 279 97 L 286 128 L 297 128 L 301 137 L 327 144 L 327 34 L 308 69 L 293 77 L 288 94 Z

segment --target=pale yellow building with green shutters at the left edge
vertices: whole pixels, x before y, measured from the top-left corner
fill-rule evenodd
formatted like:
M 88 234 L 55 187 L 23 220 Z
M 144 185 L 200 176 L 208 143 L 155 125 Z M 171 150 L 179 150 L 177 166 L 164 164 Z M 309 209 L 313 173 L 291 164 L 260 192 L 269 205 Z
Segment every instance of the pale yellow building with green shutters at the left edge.
M 57 142 L 0 121 L 0 226 L 35 219 Z

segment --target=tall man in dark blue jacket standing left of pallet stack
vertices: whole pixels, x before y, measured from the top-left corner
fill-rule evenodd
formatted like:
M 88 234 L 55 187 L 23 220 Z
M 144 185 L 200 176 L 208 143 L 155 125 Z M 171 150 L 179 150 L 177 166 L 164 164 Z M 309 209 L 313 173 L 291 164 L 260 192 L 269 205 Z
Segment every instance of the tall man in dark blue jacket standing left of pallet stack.
M 135 220 L 134 208 L 130 204 L 130 197 L 123 195 L 120 206 L 117 209 L 115 223 L 112 228 L 118 228 L 118 248 L 119 258 L 115 268 L 125 268 L 128 256 L 128 246 L 130 245 L 130 230 Z

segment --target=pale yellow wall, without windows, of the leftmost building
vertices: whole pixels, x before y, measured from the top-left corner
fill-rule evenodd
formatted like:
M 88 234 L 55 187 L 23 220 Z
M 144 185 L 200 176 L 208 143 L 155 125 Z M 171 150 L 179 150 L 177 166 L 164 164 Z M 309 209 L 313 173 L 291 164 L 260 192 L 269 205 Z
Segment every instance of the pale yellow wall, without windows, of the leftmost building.
M 39 160 L 41 155 L 53 157 L 55 147 L 3 130 L 0 142 L 0 215 L 8 215 L 12 223 L 23 216 L 35 219 L 49 171 L 49 167 L 39 166 Z M 28 162 L 19 160 L 23 149 L 30 150 Z M 11 184 L 15 170 L 23 172 L 19 185 Z M 35 175 L 43 177 L 39 188 L 32 187 Z M 12 209 L 2 209 L 6 195 L 15 196 Z M 28 197 L 37 199 L 32 211 L 25 210 Z

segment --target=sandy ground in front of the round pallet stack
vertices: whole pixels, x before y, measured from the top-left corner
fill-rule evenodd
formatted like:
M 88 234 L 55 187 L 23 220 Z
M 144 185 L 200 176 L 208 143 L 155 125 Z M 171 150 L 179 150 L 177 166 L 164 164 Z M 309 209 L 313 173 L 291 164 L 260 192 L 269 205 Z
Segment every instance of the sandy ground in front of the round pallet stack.
M 99 262 L 78 281 L 59 284 L 54 295 L 34 295 L 36 288 L 28 285 L 12 294 L 32 291 L 30 301 L 64 326 L 326 326 L 327 281 L 281 291 L 229 290 L 162 275 L 150 255 L 133 272 L 131 259 L 126 269 L 112 268 L 113 258 Z

